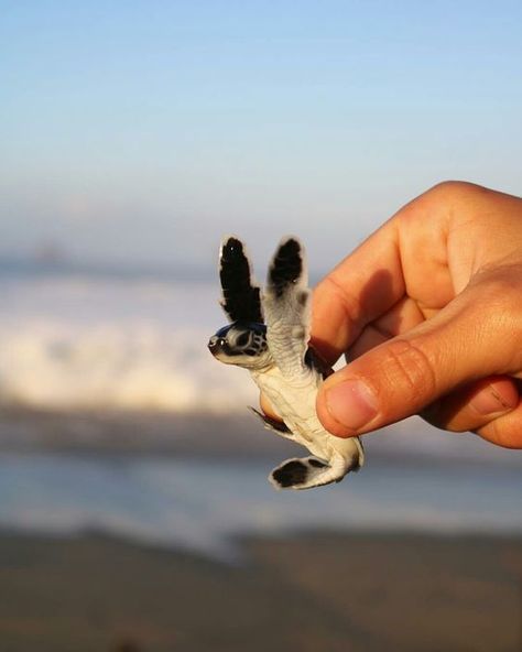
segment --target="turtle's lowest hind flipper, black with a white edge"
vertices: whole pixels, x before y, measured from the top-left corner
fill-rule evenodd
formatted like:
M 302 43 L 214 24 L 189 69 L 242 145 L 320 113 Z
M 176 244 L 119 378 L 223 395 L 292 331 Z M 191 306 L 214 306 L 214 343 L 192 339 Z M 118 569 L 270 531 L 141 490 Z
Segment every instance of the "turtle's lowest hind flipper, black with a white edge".
M 350 466 L 350 463 L 340 456 L 335 457 L 330 463 L 313 455 L 294 457 L 274 468 L 269 480 L 276 489 L 312 489 L 340 482 L 348 471 L 358 468 L 358 466 Z

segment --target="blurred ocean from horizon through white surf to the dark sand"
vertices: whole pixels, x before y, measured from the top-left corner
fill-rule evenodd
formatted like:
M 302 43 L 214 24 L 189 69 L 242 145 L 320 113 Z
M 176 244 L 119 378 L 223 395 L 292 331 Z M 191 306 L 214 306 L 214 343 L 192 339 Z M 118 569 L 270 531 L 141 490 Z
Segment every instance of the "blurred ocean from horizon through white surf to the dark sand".
M 366 437 L 367 466 L 339 485 L 273 490 L 278 445 L 261 454 L 244 437 L 238 455 L 226 436 L 258 396 L 247 372 L 207 351 L 224 324 L 218 297 L 210 278 L 0 268 L 2 528 L 96 530 L 220 556 L 237 535 L 298 529 L 522 532 L 521 452 L 418 419 Z M 148 437 L 159 417 L 164 437 L 183 427 L 183 455 Z M 139 452 L 107 449 L 118 420 L 139 423 Z M 48 447 L 54 423 L 59 445 Z M 205 430 L 194 449 L 193 424 Z

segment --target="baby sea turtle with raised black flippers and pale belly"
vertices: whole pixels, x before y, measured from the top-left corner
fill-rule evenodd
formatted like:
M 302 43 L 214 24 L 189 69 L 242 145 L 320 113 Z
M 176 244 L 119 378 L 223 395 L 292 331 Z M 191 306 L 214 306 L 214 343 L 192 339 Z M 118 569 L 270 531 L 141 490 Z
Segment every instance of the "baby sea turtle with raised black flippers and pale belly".
M 283 422 L 250 410 L 265 427 L 312 453 L 278 466 L 269 477 L 272 485 L 309 489 L 339 482 L 348 471 L 358 470 L 365 459 L 359 438 L 335 437 L 317 419 L 317 390 L 328 373 L 308 346 L 312 292 L 300 241 L 292 237 L 281 241 L 261 294 L 252 282 L 243 243 L 226 238 L 219 278 L 220 303 L 231 324 L 210 337 L 210 352 L 221 362 L 248 369 Z

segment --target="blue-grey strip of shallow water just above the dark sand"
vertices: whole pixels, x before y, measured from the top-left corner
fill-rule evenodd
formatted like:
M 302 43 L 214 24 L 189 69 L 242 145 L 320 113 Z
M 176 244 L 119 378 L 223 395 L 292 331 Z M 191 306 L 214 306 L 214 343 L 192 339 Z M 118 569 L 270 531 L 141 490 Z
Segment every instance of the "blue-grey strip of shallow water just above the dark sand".
M 272 489 L 269 470 L 269 463 L 3 454 L 0 524 L 95 529 L 217 556 L 233 555 L 233 535 L 303 528 L 522 533 L 516 469 L 373 465 L 302 492 Z

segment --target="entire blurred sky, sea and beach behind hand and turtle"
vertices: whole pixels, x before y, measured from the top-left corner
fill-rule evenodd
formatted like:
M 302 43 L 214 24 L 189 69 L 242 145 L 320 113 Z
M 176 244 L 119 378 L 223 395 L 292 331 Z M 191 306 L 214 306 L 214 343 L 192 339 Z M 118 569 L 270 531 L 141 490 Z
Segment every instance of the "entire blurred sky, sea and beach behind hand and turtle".
M 519 452 L 411 419 L 275 492 L 295 452 L 206 349 L 225 233 L 317 281 L 439 181 L 521 194 L 521 24 L 0 0 L 2 649 L 522 650 Z

